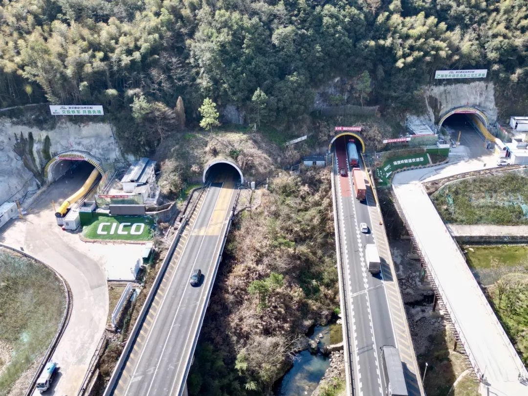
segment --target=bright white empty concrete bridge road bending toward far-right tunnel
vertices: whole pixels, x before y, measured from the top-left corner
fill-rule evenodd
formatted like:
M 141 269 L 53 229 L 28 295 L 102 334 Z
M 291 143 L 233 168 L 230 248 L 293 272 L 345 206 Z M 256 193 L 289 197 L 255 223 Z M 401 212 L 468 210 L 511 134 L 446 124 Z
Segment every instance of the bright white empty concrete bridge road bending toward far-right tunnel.
M 477 374 L 485 376 L 486 391 L 521 396 L 528 394 L 528 386 L 521 383 L 519 376 L 528 378 L 528 372 L 421 184 L 421 181 L 491 167 L 492 158 L 486 155 L 484 159 L 403 172 L 394 176 L 393 190 L 440 286 L 450 316 L 465 340 L 466 352 Z

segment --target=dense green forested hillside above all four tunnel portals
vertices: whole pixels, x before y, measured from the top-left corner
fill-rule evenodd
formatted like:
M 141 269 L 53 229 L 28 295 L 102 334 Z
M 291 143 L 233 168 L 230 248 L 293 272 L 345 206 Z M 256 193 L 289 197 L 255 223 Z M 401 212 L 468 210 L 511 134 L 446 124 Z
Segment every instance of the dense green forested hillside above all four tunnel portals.
M 528 88 L 525 0 L 2 0 L 0 17 L 2 107 L 135 100 L 170 122 L 178 96 L 188 119 L 211 97 L 274 122 L 335 76 L 398 109 L 438 68 Z

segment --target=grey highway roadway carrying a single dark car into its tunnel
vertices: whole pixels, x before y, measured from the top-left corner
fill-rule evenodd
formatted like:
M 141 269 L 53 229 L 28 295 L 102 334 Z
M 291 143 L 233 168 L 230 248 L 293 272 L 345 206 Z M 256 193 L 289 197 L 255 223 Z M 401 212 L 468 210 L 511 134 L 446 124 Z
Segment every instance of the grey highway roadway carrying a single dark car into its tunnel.
M 106 394 L 184 392 L 236 194 L 230 175 L 219 176 L 209 187 L 176 248 L 175 262 L 169 264 L 117 386 Z M 202 270 L 202 282 L 192 287 L 189 277 L 196 268 Z

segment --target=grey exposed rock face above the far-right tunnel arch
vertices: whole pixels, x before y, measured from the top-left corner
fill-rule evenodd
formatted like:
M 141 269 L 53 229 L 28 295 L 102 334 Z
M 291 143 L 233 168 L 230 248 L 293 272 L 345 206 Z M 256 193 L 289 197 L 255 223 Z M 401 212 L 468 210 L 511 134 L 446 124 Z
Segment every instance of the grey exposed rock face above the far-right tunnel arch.
M 425 89 L 428 124 L 436 124 L 440 117 L 455 107 L 475 106 L 485 112 L 490 122 L 497 119 L 495 88 L 492 82 L 475 81 L 469 84 L 448 83 Z

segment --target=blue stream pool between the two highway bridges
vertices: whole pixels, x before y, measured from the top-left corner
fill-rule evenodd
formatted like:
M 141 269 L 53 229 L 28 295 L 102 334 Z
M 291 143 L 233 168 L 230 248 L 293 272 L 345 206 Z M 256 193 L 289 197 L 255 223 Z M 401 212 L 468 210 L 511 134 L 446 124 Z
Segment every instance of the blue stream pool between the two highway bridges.
M 334 326 L 341 327 L 341 325 L 330 325 L 316 326 L 314 328 L 314 334 L 310 338 L 319 340 L 319 348 L 331 343 L 331 326 L 333 334 L 337 333 Z M 319 337 L 319 335 L 323 335 L 323 337 Z M 334 339 L 332 339 L 332 342 L 334 342 Z M 277 396 L 310 395 L 317 388 L 319 381 L 323 378 L 329 366 L 330 360 L 327 356 L 323 356 L 320 353 L 313 355 L 308 350 L 302 351 L 295 357 L 293 367 L 276 383 L 274 393 Z

